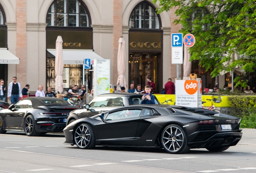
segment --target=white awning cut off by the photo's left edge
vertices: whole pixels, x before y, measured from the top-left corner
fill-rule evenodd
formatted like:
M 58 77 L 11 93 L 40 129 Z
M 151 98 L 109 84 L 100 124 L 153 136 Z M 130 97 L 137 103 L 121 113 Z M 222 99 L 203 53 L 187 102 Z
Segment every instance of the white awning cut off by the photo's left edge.
M 7 48 L 0 48 L 0 64 L 19 64 L 20 59 L 9 52 Z

